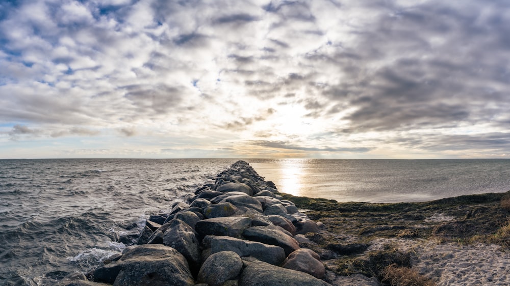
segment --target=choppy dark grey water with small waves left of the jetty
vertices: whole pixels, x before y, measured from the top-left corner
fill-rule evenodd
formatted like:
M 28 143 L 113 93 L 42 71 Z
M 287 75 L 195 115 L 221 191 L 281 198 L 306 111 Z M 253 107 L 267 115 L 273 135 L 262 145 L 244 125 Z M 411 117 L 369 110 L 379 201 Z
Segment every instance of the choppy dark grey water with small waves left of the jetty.
M 0 160 L 0 285 L 86 272 L 122 250 L 119 236 L 235 161 Z

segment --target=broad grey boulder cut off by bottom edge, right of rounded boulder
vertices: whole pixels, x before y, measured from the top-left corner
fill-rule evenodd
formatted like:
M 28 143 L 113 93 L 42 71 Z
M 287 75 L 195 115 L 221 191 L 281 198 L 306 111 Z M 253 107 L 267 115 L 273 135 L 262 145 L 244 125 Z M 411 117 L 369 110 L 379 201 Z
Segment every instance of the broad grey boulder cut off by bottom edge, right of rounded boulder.
M 304 272 L 275 267 L 264 262 L 251 263 L 243 270 L 239 279 L 239 286 L 263 285 L 326 286 L 329 284 Z

